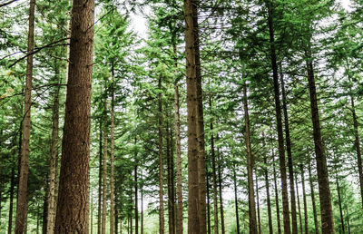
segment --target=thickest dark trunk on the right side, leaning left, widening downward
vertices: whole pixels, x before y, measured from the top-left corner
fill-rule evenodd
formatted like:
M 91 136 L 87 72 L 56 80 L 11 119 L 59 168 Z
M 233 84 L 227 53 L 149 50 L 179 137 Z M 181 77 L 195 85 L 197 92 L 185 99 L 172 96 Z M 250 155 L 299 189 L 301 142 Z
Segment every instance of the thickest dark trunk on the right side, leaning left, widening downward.
M 333 210 L 331 206 L 331 195 L 329 188 L 329 172 L 327 166 L 327 157 L 324 152 L 323 141 L 320 132 L 320 119 L 318 107 L 318 95 L 315 84 L 315 76 L 311 54 L 307 58 L 311 122 L 313 125 L 313 135 L 315 144 L 315 155 L 317 161 L 318 183 L 319 183 L 319 200 L 321 210 L 321 231 L 322 233 L 335 233 Z

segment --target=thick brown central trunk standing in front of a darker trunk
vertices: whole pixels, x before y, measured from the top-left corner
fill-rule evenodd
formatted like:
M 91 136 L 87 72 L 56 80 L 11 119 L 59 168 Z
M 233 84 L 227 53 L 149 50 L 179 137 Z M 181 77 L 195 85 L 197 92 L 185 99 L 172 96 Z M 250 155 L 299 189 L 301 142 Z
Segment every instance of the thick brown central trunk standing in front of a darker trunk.
M 188 233 L 206 233 L 206 227 L 201 229 L 205 224 L 204 219 L 201 220 L 201 210 L 205 210 L 205 206 L 201 208 L 201 159 L 200 154 L 200 136 L 198 135 L 198 78 L 197 78 L 197 29 L 195 28 L 195 1 L 184 1 L 184 19 L 185 19 L 185 52 L 186 52 L 186 76 L 187 76 L 187 112 L 188 112 Z M 204 166 L 205 167 L 205 166 Z M 202 170 L 205 170 L 204 168 Z M 205 175 L 205 173 L 204 173 Z M 203 179 L 205 180 L 205 179 Z M 205 196 L 203 199 L 205 203 Z M 205 212 L 204 212 L 205 214 Z M 206 226 L 206 225 L 204 225 Z

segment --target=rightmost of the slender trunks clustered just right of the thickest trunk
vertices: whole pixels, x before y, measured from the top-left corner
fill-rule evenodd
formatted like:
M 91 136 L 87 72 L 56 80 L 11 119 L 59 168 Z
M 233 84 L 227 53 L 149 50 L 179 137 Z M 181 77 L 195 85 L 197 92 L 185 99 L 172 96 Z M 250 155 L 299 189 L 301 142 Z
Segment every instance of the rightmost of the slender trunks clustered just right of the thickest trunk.
M 110 234 L 114 229 L 114 69 L 112 65 L 113 80 L 111 83 L 111 155 L 110 155 Z

